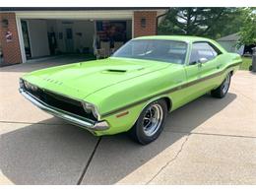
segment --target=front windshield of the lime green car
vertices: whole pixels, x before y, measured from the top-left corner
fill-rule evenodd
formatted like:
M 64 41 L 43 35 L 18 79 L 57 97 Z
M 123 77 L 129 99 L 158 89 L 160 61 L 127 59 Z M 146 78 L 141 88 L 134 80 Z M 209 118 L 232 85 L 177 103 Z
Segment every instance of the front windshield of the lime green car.
M 112 57 L 156 60 L 184 64 L 187 43 L 175 40 L 135 39 L 119 48 Z

